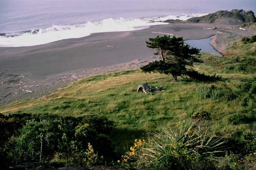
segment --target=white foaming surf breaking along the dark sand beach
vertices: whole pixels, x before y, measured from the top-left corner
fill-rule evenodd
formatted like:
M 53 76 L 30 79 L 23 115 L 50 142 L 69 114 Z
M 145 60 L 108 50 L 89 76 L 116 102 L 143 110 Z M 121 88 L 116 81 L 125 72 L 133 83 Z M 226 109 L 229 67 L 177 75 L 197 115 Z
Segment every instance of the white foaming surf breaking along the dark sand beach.
M 169 15 L 167 17 L 154 18 L 133 18 L 133 19 L 105 19 L 100 22 L 87 22 L 77 25 L 56 26 L 46 29 L 39 29 L 37 34 L 31 32 L 23 33 L 16 36 L 0 36 L 0 47 L 17 47 L 17 46 L 35 46 L 50 43 L 58 40 L 69 38 L 85 37 L 96 32 L 121 32 L 145 29 L 152 25 L 167 24 L 160 21 L 168 19 L 186 20 L 190 17 L 201 16 L 202 14 L 192 15 Z M 150 22 L 150 21 L 156 22 Z M 34 32 L 35 33 L 35 32 Z

